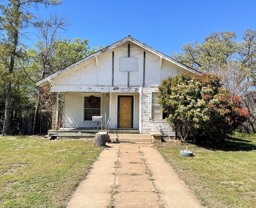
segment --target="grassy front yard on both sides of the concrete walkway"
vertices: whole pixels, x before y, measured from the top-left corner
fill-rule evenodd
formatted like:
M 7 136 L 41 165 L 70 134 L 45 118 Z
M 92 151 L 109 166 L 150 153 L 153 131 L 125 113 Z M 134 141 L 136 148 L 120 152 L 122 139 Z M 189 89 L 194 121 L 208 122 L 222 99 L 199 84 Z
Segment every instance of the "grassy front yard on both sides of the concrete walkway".
M 93 142 L 0 137 L 0 207 L 66 207 L 102 151 Z M 186 146 L 194 157 L 180 156 Z M 206 207 L 256 207 L 255 137 L 214 149 L 176 140 L 157 148 Z

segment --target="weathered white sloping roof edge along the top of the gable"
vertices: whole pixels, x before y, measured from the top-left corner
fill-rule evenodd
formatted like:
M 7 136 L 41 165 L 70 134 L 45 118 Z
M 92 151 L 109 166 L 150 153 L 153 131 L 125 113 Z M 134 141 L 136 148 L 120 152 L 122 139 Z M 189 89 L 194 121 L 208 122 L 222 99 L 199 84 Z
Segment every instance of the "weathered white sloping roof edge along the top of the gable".
M 47 77 L 45 77 L 45 78 L 43 78 L 41 80 L 38 80 L 36 82 L 36 85 L 40 85 L 40 84 L 43 84 L 44 82 L 48 82 L 49 79 L 52 79 L 52 78 L 56 77 L 57 75 L 60 75 L 60 74 L 62 74 L 64 72 L 66 72 L 66 71 L 68 71 L 68 70 L 70 70 L 70 69 L 72 69 L 72 68 L 74 68 L 74 67 L 76 67 L 76 66 L 78 66 L 78 65 L 80 65 L 80 64 L 82 64 L 82 63 L 84 63 L 84 62 L 86 62 L 86 61 L 88 61 L 90 59 L 92 59 L 92 58 L 94 58 L 94 57 L 97 57 L 98 55 L 100 55 L 102 53 L 110 51 L 110 50 L 112 50 L 112 49 L 118 47 L 119 45 L 122 45 L 123 43 L 126 43 L 128 41 L 130 41 L 130 42 L 140 46 L 141 48 L 145 49 L 146 51 L 150 51 L 151 53 L 154 53 L 154 54 L 158 55 L 159 57 L 162 57 L 163 59 L 166 59 L 166 60 L 170 61 L 171 63 L 174 63 L 174 64 L 182 67 L 183 69 L 186 69 L 187 71 L 190 71 L 191 73 L 200 74 L 200 72 L 198 72 L 198 71 L 196 71 L 194 69 L 191 69 L 190 67 L 187 67 L 186 65 L 184 65 L 184 64 L 182 64 L 182 63 L 172 59 L 171 57 L 169 57 L 169 56 L 167 56 L 167 55 L 165 55 L 165 54 L 163 54 L 163 53 L 161 53 L 161 52 L 159 52 L 159 51 L 149 47 L 148 45 L 146 45 L 144 43 L 141 43 L 140 41 L 138 41 L 138 40 L 134 39 L 133 37 L 131 37 L 130 35 L 128 35 L 124 39 L 121 39 L 121 40 L 119 40 L 119 41 L 117 41 L 117 42 L 115 42 L 115 43 L 113 43 L 113 44 L 111 44 L 111 45 L 101 49 L 100 51 L 97 51 L 97 52 L 95 52 L 95 53 L 93 53 L 93 54 L 91 54 L 91 55 L 81 59 L 80 61 L 77 61 L 77 62 L 73 63 L 72 65 L 70 65 L 68 67 L 60 69 L 59 71 L 56 71 L 55 73 L 53 73 L 53 74 L 51 74 L 51 75 L 49 75 L 49 76 L 47 76 Z

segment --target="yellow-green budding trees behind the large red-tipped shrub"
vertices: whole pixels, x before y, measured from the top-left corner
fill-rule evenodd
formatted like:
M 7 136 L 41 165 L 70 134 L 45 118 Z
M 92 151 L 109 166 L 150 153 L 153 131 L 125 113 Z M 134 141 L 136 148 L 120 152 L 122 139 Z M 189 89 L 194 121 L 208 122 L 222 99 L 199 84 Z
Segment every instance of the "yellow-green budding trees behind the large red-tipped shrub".
M 256 86 L 256 30 L 246 29 L 242 41 L 236 41 L 234 32 L 210 33 L 202 43 L 187 43 L 182 46 L 183 53 L 173 53 L 177 61 L 200 72 L 207 72 L 221 77 L 222 86 L 233 95 L 245 98 Z M 254 112 L 256 104 L 243 105 L 249 112 Z M 254 115 L 248 122 L 254 124 Z

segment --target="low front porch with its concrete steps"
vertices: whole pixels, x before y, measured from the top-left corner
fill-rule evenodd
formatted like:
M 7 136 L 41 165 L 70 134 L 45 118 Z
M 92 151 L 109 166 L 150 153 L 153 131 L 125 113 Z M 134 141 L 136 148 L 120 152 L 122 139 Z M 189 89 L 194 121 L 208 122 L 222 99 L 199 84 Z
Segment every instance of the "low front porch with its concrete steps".
M 61 128 L 48 130 L 48 139 L 94 139 L 97 132 L 97 128 Z M 99 129 L 99 132 L 106 131 Z M 107 141 L 153 143 L 154 139 L 151 134 L 140 134 L 137 130 L 109 130 Z M 161 142 L 161 139 L 158 141 Z

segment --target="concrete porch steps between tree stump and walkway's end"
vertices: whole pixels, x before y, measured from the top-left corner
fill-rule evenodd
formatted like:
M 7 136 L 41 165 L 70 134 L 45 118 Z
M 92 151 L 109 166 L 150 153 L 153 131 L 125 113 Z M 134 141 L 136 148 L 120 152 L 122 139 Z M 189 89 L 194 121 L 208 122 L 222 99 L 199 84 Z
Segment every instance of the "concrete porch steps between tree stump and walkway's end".
M 108 141 L 111 142 L 136 142 L 136 143 L 152 143 L 150 134 L 128 134 L 128 133 L 109 133 Z

